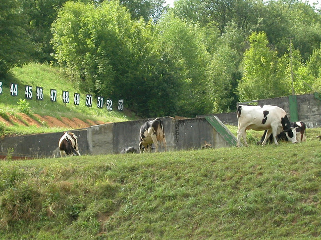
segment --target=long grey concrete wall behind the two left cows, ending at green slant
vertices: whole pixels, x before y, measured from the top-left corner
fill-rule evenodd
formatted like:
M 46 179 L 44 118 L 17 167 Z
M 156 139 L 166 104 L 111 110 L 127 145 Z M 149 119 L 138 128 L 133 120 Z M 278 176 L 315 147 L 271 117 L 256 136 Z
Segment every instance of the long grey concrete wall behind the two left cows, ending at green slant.
M 198 149 L 204 141 L 213 148 L 227 147 L 228 144 L 205 119 L 175 120 L 160 118 L 164 124 L 167 151 Z M 81 155 L 118 154 L 125 147 L 133 146 L 139 151 L 139 129 L 147 120 L 108 123 L 72 130 L 78 136 Z M 1 152 L 6 155 L 12 148 L 15 157 L 53 158 L 60 157 L 58 141 L 63 132 L 5 137 L 0 139 Z M 160 149 L 163 151 L 163 149 Z

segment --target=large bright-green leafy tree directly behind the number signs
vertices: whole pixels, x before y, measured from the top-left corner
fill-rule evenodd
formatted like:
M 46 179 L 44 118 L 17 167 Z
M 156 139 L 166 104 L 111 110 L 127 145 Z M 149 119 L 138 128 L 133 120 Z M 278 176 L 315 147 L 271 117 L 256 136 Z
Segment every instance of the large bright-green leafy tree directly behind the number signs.
M 115 1 L 67 2 L 53 26 L 58 62 L 78 71 L 88 91 L 113 96 L 114 81 L 123 82 L 130 68 L 128 46 L 137 40 L 126 9 Z

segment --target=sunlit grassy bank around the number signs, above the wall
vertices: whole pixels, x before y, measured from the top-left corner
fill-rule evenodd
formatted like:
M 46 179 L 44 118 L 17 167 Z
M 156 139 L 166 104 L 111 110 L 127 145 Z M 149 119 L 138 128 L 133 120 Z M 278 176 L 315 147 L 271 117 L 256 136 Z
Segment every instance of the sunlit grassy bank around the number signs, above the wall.
M 14 115 L 19 118 L 17 113 L 26 112 L 30 117 L 38 120 L 35 114 L 40 116 L 52 116 L 58 119 L 66 117 L 69 119 L 78 118 L 80 120 L 100 120 L 103 122 L 117 122 L 133 119 L 126 116 L 124 112 L 115 110 L 117 104 L 114 103 L 114 111 L 107 111 L 106 104 L 103 109 L 97 108 L 97 99 L 93 100 L 93 107 L 85 106 L 85 96 L 88 92 L 83 92 L 75 81 L 70 80 L 64 71 L 58 67 L 42 64 L 28 64 L 22 68 L 14 68 L 12 76 L 8 79 L 2 80 L 2 94 L 0 95 L 0 116 L 9 120 L 8 115 Z M 18 96 L 10 96 L 9 83 L 17 83 L 19 86 Z M 24 103 L 19 103 L 20 100 L 25 99 L 25 85 L 33 87 L 33 99 L 26 100 Z M 36 100 L 36 86 L 41 86 L 44 89 L 44 100 Z M 50 89 L 57 90 L 57 101 L 50 101 Z M 69 91 L 70 102 L 64 104 L 62 102 L 62 90 Z M 73 104 L 74 92 L 80 93 L 80 105 Z M 114 100 L 115 101 L 115 100 Z M 53 129 L 44 127 L 23 127 L 15 124 L 14 126 L 6 126 L 0 123 L 0 133 L 38 133 L 61 131 L 62 129 Z M 63 129 L 65 130 L 65 129 Z M 25 132 L 24 132 L 25 131 Z

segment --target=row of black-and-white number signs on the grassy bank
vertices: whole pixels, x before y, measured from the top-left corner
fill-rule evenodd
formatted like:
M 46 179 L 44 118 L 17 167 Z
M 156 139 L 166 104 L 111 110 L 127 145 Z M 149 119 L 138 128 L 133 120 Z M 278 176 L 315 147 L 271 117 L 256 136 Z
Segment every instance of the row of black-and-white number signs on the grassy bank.
M 2 93 L 2 82 L 0 81 L 0 94 Z M 10 83 L 10 95 L 11 96 L 18 96 L 18 84 L 16 83 Z M 26 99 L 32 99 L 32 86 L 25 85 L 25 98 Z M 36 99 L 37 100 L 44 100 L 44 93 L 43 93 L 43 87 L 36 87 Z M 57 90 L 56 89 L 50 89 L 50 100 L 52 102 L 57 101 Z M 70 96 L 68 91 L 62 91 L 62 102 L 63 103 L 69 103 Z M 73 98 L 74 105 L 79 105 L 80 103 L 80 94 L 79 93 L 74 93 L 74 98 Z M 119 99 L 118 100 L 118 107 L 117 109 L 119 111 L 122 111 L 124 109 L 123 107 L 124 100 Z M 107 110 L 112 110 L 112 100 L 107 99 L 106 100 L 106 108 Z M 93 95 L 91 94 L 86 94 L 86 106 L 87 107 L 92 107 L 93 105 Z M 97 97 L 97 107 L 98 108 L 103 108 L 104 106 L 104 97 L 98 96 Z

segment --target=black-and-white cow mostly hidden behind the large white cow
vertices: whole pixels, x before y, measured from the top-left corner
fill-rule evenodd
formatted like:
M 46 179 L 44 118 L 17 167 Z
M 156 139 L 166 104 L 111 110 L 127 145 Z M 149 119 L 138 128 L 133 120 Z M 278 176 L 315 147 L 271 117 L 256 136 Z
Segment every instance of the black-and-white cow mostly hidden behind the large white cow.
M 296 122 L 291 122 L 291 127 L 295 128 L 296 130 L 296 139 L 298 143 L 305 142 L 306 141 L 306 124 L 302 121 L 296 121 Z M 263 140 L 265 139 L 265 136 L 267 134 L 268 130 L 265 130 L 261 140 L 258 142 L 258 145 L 262 144 Z M 286 137 L 285 132 L 281 132 L 276 136 L 277 141 L 289 141 Z M 271 134 L 268 138 L 267 143 L 272 143 L 273 142 L 273 134 Z

